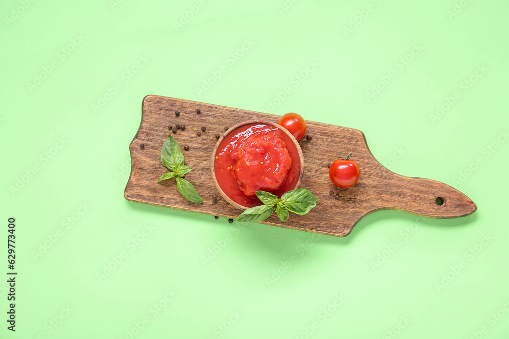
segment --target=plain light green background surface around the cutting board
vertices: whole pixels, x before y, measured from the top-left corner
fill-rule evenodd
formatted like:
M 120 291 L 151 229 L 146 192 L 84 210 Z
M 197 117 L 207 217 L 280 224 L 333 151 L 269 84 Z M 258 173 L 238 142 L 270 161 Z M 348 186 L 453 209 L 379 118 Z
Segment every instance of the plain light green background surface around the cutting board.
M 3 320 L 0 337 L 509 335 L 505 0 L 8 0 L 0 13 L 0 274 L 10 217 L 18 272 L 16 332 Z M 128 202 L 149 94 L 359 129 L 387 168 L 478 210 L 381 211 L 336 238 Z

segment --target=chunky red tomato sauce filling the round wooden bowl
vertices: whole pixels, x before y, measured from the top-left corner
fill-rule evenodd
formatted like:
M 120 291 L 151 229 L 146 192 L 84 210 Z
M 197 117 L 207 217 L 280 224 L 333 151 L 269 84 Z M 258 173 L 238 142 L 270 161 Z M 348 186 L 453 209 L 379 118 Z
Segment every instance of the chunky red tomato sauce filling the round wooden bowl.
M 214 172 L 223 192 L 242 206 L 262 202 L 256 191 L 278 197 L 296 187 L 300 159 L 293 140 L 277 127 L 268 124 L 241 126 L 221 140 Z

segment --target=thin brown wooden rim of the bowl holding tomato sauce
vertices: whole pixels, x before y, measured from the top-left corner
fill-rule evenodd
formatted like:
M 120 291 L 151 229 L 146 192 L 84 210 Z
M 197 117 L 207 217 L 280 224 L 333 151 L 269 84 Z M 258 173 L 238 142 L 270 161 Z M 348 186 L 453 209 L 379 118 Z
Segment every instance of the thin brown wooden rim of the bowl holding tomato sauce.
M 212 161 L 211 161 L 210 168 L 211 168 L 211 172 L 212 172 L 212 179 L 214 180 L 214 184 L 216 186 L 217 191 L 221 194 L 221 196 L 224 198 L 224 200 L 228 201 L 230 204 L 232 204 L 233 206 L 235 206 L 235 207 L 237 207 L 239 209 L 247 209 L 249 207 L 243 206 L 243 205 L 233 201 L 221 189 L 221 187 L 219 186 L 219 183 L 217 182 L 216 174 L 215 174 L 215 171 L 214 171 L 214 159 L 215 159 L 215 156 L 216 156 L 217 148 L 219 147 L 219 144 L 221 143 L 221 141 L 225 137 L 229 136 L 230 133 L 232 133 L 233 130 L 235 130 L 235 129 L 239 128 L 239 127 L 245 126 L 245 125 L 249 125 L 249 124 L 266 124 L 266 125 L 271 125 L 271 126 L 277 127 L 282 133 L 284 133 L 287 136 L 289 136 L 290 139 L 293 141 L 293 144 L 295 145 L 295 148 L 297 149 L 297 152 L 299 153 L 300 174 L 299 174 L 299 177 L 297 178 L 297 180 L 295 180 L 295 183 L 289 189 L 289 191 L 294 190 L 294 189 L 299 187 L 300 180 L 302 179 L 302 175 L 304 174 L 304 156 L 302 154 L 302 149 L 300 148 L 300 145 L 299 145 L 299 142 L 297 141 L 297 139 L 295 139 L 295 137 L 290 132 L 288 132 L 288 130 L 285 129 L 284 127 L 276 124 L 275 122 L 264 121 L 264 120 L 248 120 L 248 121 L 241 122 L 240 124 L 231 127 L 228 131 L 224 132 L 224 134 L 219 138 L 219 140 L 217 140 L 217 143 L 216 143 L 216 145 L 214 147 L 214 150 L 212 151 Z M 261 201 L 260 201 L 260 204 L 262 204 Z

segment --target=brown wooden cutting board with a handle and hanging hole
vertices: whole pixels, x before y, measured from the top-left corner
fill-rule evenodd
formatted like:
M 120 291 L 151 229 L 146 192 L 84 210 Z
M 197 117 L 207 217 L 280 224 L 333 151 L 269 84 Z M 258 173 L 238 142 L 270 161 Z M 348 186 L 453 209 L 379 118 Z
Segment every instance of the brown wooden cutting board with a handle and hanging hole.
M 197 114 L 196 109 L 201 113 Z M 124 196 L 129 201 L 156 206 L 188 210 L 236 219 L 242 212 L 222 199 L 211 175 L 211 157 L 216 145 L 215 135 L 224 133 L 245 120 L 277 122 L 279 116 L 230 107 L 160 96 L 147 96 L 143 100 L 143 115 L 139 130 L 129 145 L 131 175 Z M 176 116 L 175 112 L 180 115 Z M 173 133 L 168 125 L 185 124 L 185 130 Z M 301 188 L 308 189 L 318 198 L 317 206 L 306 215 L 290 213 L 282 223 L 274 213 L 263 224 L 298 229 L 334 236 L 346 236 L 365 215 L 383 209 L 398 209 L 431 218 L 458 218 L 473 213 L 477 206 L 458 190 L 431 179 L 406 177 L 389 171 L 372 155 L 364 134 L 355 129 L 322 124 L 306 120 L 306 134 L 311 141 L 299 142 L 304 155 L 304 175 Z M 201 127 L 201 136 L 196 132 Z M 184 199 L 176 188 L 175 180 L 157 179 L 167 169 L 161 164 L 161 147 L 171 134 L 180 145 L 189 145 L 184 152 L 185 164 L 193 170 L 186 174 L 203 204 Z M 140 148 L 140 144 L 144 148 Z M 338 189 L 329 180 L 327 164 L 338 156 L 353 152 L 360 167 L 360 178 L 355 186 Z M 306 175 L 313 173 L 313 175 Z M 329 191 L 339 194 L 336 199 Z M 441 197 L 440 206 L 435 200 Z M 217 202 L 214 203 L 213 199 Z

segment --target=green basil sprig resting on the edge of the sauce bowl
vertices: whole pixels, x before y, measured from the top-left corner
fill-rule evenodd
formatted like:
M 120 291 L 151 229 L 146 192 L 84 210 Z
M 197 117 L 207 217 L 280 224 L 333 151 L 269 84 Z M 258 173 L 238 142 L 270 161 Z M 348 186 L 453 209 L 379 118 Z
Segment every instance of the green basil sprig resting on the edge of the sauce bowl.
M 316 206 L 317 197 L 306 189 L 296 189 L 283 194 L 281 198 L 265 191 L 256 191 L 263 205 L 246 209 L 237 221 L 257 223 L 272 215 L 274 209 L 282 222 L 288 221 L 289 212 L 304 215 Z

